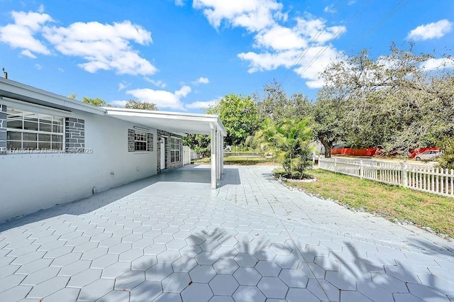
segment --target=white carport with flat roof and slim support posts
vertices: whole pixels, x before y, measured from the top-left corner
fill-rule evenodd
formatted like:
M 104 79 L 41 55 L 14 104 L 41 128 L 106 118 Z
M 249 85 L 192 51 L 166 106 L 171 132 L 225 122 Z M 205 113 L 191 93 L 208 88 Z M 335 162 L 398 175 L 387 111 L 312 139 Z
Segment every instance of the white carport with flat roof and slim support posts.
M 223 138 L 227 135 L 217 115 L 111 107 L 104 107 L 104 109 L 108 116 L 150 128 L 171 133 L 211 135 L 211 189 L 216 189 L 217 181 L 223 174 Z

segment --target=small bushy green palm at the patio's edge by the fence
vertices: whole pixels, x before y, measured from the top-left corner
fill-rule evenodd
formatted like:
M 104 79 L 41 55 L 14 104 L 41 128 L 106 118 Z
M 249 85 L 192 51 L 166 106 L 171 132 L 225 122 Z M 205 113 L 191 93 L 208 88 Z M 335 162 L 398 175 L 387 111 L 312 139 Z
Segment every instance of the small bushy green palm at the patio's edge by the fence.
M 290 178 L 302 179 L 312 166 L 309 119 L 287 120 L 277 125 L 267 118 L 256 136 L 272 151 Z

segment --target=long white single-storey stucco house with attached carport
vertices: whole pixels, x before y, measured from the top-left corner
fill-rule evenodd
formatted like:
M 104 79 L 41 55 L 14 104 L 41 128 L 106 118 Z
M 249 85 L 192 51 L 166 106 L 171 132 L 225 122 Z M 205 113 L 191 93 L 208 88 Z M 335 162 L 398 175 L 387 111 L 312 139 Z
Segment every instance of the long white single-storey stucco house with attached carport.
M 211 135 L 216 189 L 218 116 L 94 107 L 0 78 L 0 222 L 181 167 L 184 133 Z

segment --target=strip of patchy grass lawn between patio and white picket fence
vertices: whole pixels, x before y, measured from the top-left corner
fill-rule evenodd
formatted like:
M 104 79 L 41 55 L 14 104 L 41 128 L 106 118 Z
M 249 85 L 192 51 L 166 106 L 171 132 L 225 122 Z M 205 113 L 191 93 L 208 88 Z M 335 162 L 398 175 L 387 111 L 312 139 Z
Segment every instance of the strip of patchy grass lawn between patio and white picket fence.
M 308 174 L 318 180 L 287 184 L 323 198 L 332 198 L 352 208 L 384 216 L 391 221 L 409 221 L 419 227 L 429 227 L 437 233 L 454 237 L 454 198 L 322 169 L 311 170 Z

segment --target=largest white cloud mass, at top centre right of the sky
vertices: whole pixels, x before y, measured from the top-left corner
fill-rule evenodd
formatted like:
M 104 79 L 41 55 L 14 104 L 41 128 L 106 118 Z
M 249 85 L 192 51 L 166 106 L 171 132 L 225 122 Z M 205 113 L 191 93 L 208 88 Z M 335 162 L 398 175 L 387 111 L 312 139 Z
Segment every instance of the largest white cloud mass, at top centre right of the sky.
M 276 0 L 194 0 L 193 7 L 202 10 L 214 28 L 225 23 L 254 34 L 257 51 L 238 54 L 249 63 L 248 72 L 294 67 L 311 88 L 321 86 L 319 73 L 339 55 L 331 41 L 346 31 L 345 26 L 328 27 L 309 13 L 287 26 L 288 13 Z M 334 12 L 334 6 L 326 11 Z

